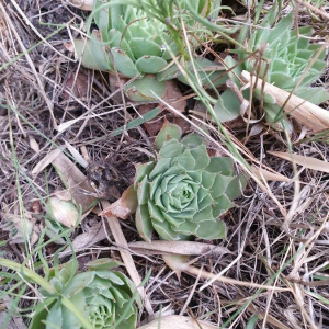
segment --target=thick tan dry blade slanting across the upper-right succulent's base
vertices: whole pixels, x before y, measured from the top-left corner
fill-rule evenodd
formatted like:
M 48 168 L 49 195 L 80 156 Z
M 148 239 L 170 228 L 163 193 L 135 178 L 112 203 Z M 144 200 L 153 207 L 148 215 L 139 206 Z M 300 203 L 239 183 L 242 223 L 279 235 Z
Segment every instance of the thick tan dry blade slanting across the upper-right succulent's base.
M 247 71 L 242 71 L 241 76 L 247 82 L 251 83 L 254 81 L 254 78 Z M 254 88 L 261 89 L 265 93 L 272 95 L 276 100 L 276 105 L 284 106 L 284 112 L 292 115 L 302 125 L 314 132 L 329 128 L 328 111 L 268 82 L 264 82 L 264 88 L 262 88 L 262 79 L 258 78 Z

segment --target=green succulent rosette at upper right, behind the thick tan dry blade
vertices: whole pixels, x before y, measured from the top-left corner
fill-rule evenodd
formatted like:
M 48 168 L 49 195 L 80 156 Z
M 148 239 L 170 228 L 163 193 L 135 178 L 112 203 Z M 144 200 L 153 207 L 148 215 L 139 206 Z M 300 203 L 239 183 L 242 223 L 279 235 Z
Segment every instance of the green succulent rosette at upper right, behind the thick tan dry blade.
M 321 87 L 310 87 L 326 68 L 325 50 L 318 54 L 321 45 L 311 44 L 309 41 L 313 34 L 311 26 L 299 27 L 297 35 L 296 30 L 292 30 L 293 13 L 290 13 L 271 29 L 274 20 L 272 14 L 273 12 L 270 12 L 264 18 L 262 26 L 253 31 L 251 37 L 246 39 L 248 54 L 240 49 L 239 60 L 242 65 L 235 72 L 237 75 L 240 75 L 242 70 L 254 72 L 266 82 L 293 92 L 314 104 L 325 102 L 329 99 L 329 93 Z M 245 34 L 241 32 L 240 38 L 242 35 Z M 253 55 L 250 56 L 251 53 Z M 261 61 L 259 60 L 260 54 Z M 319 56 L 316 57 L 317 55 Z M 227 57 L 226 63 L 229 67 L 237 64 L 231 57 Z M 230 73 L 230 78 L 239 83 L 234 75 Z M 227 103 L 231 103 L 235 95 L 230 91 L 227 92 L 228 94 L 231 98 L 227 98 Z M 266 94 L 261 95 L 259 90 L 256 90 L 254 97 L 263 98 L 266 121 L 274 127 L 280 127 L 277 120 L 282 117 L 282 114 L 275 100 Z M 281 123 L 284 124 L 284 122 Z

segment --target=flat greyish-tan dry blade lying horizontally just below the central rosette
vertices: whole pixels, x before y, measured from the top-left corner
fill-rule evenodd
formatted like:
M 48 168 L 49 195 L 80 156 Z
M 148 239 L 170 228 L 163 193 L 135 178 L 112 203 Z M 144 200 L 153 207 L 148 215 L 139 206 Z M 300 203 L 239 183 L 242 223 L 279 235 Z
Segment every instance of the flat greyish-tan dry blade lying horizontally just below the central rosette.
M 137 241 L 129 242 L 128 247 L 144 254 L 186 254 L 201 256 L 205 253 L 222 256 L 232 253 L 225 247 L 207 245 L 194 241 L 152 241 L 151 243 Z

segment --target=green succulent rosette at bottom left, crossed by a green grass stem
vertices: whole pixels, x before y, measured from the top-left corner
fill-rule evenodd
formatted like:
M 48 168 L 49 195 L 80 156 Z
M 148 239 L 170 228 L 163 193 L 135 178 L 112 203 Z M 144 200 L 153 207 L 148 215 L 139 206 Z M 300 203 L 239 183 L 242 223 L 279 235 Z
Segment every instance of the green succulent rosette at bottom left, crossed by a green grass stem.
M 30 328 L 86 328 L 81 318 L 67 308 L 66 298 L 92 328 L 135 329 L 137 309 L 132 305 L 135 287 L 123 273 L 112 271 L 118 264 L 111 259 L 99 259 L 88 264 L 88 271 L 76 273 L 76 263 L 68 263 L 49 282 L 56 293 L 42 292 L 44 299 L 36 307 Z

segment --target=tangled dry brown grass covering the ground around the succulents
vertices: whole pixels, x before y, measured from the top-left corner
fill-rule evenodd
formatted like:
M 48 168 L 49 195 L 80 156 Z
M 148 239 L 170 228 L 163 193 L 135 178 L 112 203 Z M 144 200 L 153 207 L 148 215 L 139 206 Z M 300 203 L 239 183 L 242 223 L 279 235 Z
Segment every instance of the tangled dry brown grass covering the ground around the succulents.
M 0 3 L 0 65 L 25 52 L 0 70 L 0 104 L 13 110 L 0 107 L 0 204 L 14 208 L 22 200 L 24 209 L 35 214 L 36 225 L 41 227 L 45 212 L 42 201 L 63 185 L 49 167 L 36 178 L 31 172 L 55 145 L 68 141 L 87 161 L 110 163 L 117 170 L 124 166 L 127 171 L 133 162 L 146 160 L 147 151 L 152 152 L 152 138 L 147 137 L 143 128 L 109 138 L 109 134 L 127 120 L 125 104 L 120 98 L 118 102 L 109 99 L 106 75 L 80 67 L 63 44 L 78 35 L 83 14 L 59 1 L 5 0 Z M 303 11 L 299 18 L 308 21 L 309 16 Z M 58 31 L 54 23 L 61 24 L 63 29 Z M 315 25 L 321 36 L 328 33 L 325 23 Z M 43 38 L 47 41 L 39 43 Z M 34 47 L 37 43 L 39 45 Z M 327 86 L 328 71 L 322 78 Z M 87 86 L 82 83 L 86 80 Z M 66 91 L 72 84 L 78 87 Z M 129 113 L 135 114 L 131 109 Z M 60 133 L 56 131 L 56 126 L 79 117 L 81 120 Z M 237 139 L 245 137 L 245 128 L 234 133 Z M 185 314 L 218 325 L 236 315 L 225 328 L 246 328 L 253 315 L 260 318 L 256 328 L 329 328 L 328 174 L 302 168 L 296 172 L 290 162 L 266 155 L 268 150 L 287 150 L 286 136 L 273 134 L 250 137 L 245 147 L 259 162 L 292 179 L 290 183 L 269 182 L 268 185 L 288 214 L 287 226 L 283 229 L 282 224 L 287 218 L 273 197 L 250 181 L 243 197 L 237 201 L 238 207 L 225 218 L 228 239 L 205 241 L 226 247 L 231 253 L 218 257 L 208 252 L 196 257 L 193 265 L 232 280 L 271 284 L 287 291 L 229 282 L 214 282 L 201 290 L 207 282 L 202 275 L 184 272 L 177 275 L 161 257 L 134 254 L 141 277 L 152 270 L 145 292 L 154 313 L 162 307 L 162 314 Z M 313 141 L 307 137 L 303 131 L 293 134 L 293 150 L 329 161 L 327 141 Z M 306 141 L 298 143 L 302 138 Z M 88 173 L 86 169 L 83 172 Z M 296 178 L 299 186 L 294 183 Z M 126 188 L 131 180 L 128 173 L 121 188 Z M 72 238 L 99 222 L 97 215 L 89 214 Z M 133 218 L 122 223 L 122 230 L 127 241 L 139 239 Z M 120 258 L 120 248 L 111 242 L 110 230 L 107 235 L 110 241 L 105 239 L 79 252 L 81 268 L 91 258 Z M 8 232 L 0 231 L 0 237 L 7 240 Z M 50 259 L 57 248 L 50 243 L 43 253 Z M 23 262 L 27 252 L 29 248 L 21 245 L 5 245 L 1 250 L 3 257 L 18 262 Z M 68 257 L 61 259 L 67 260 Z M 36 262 L 37 257 L 31 261 Z M 32 291 L 29 296 L 33 296 Z M 29 299 L 20 302 L 21 309 L 30 305 Z M 146 317 L 146 311 L 140 314 L 141 321 Z M 286 327 L 281 327 L 283 325 Z

